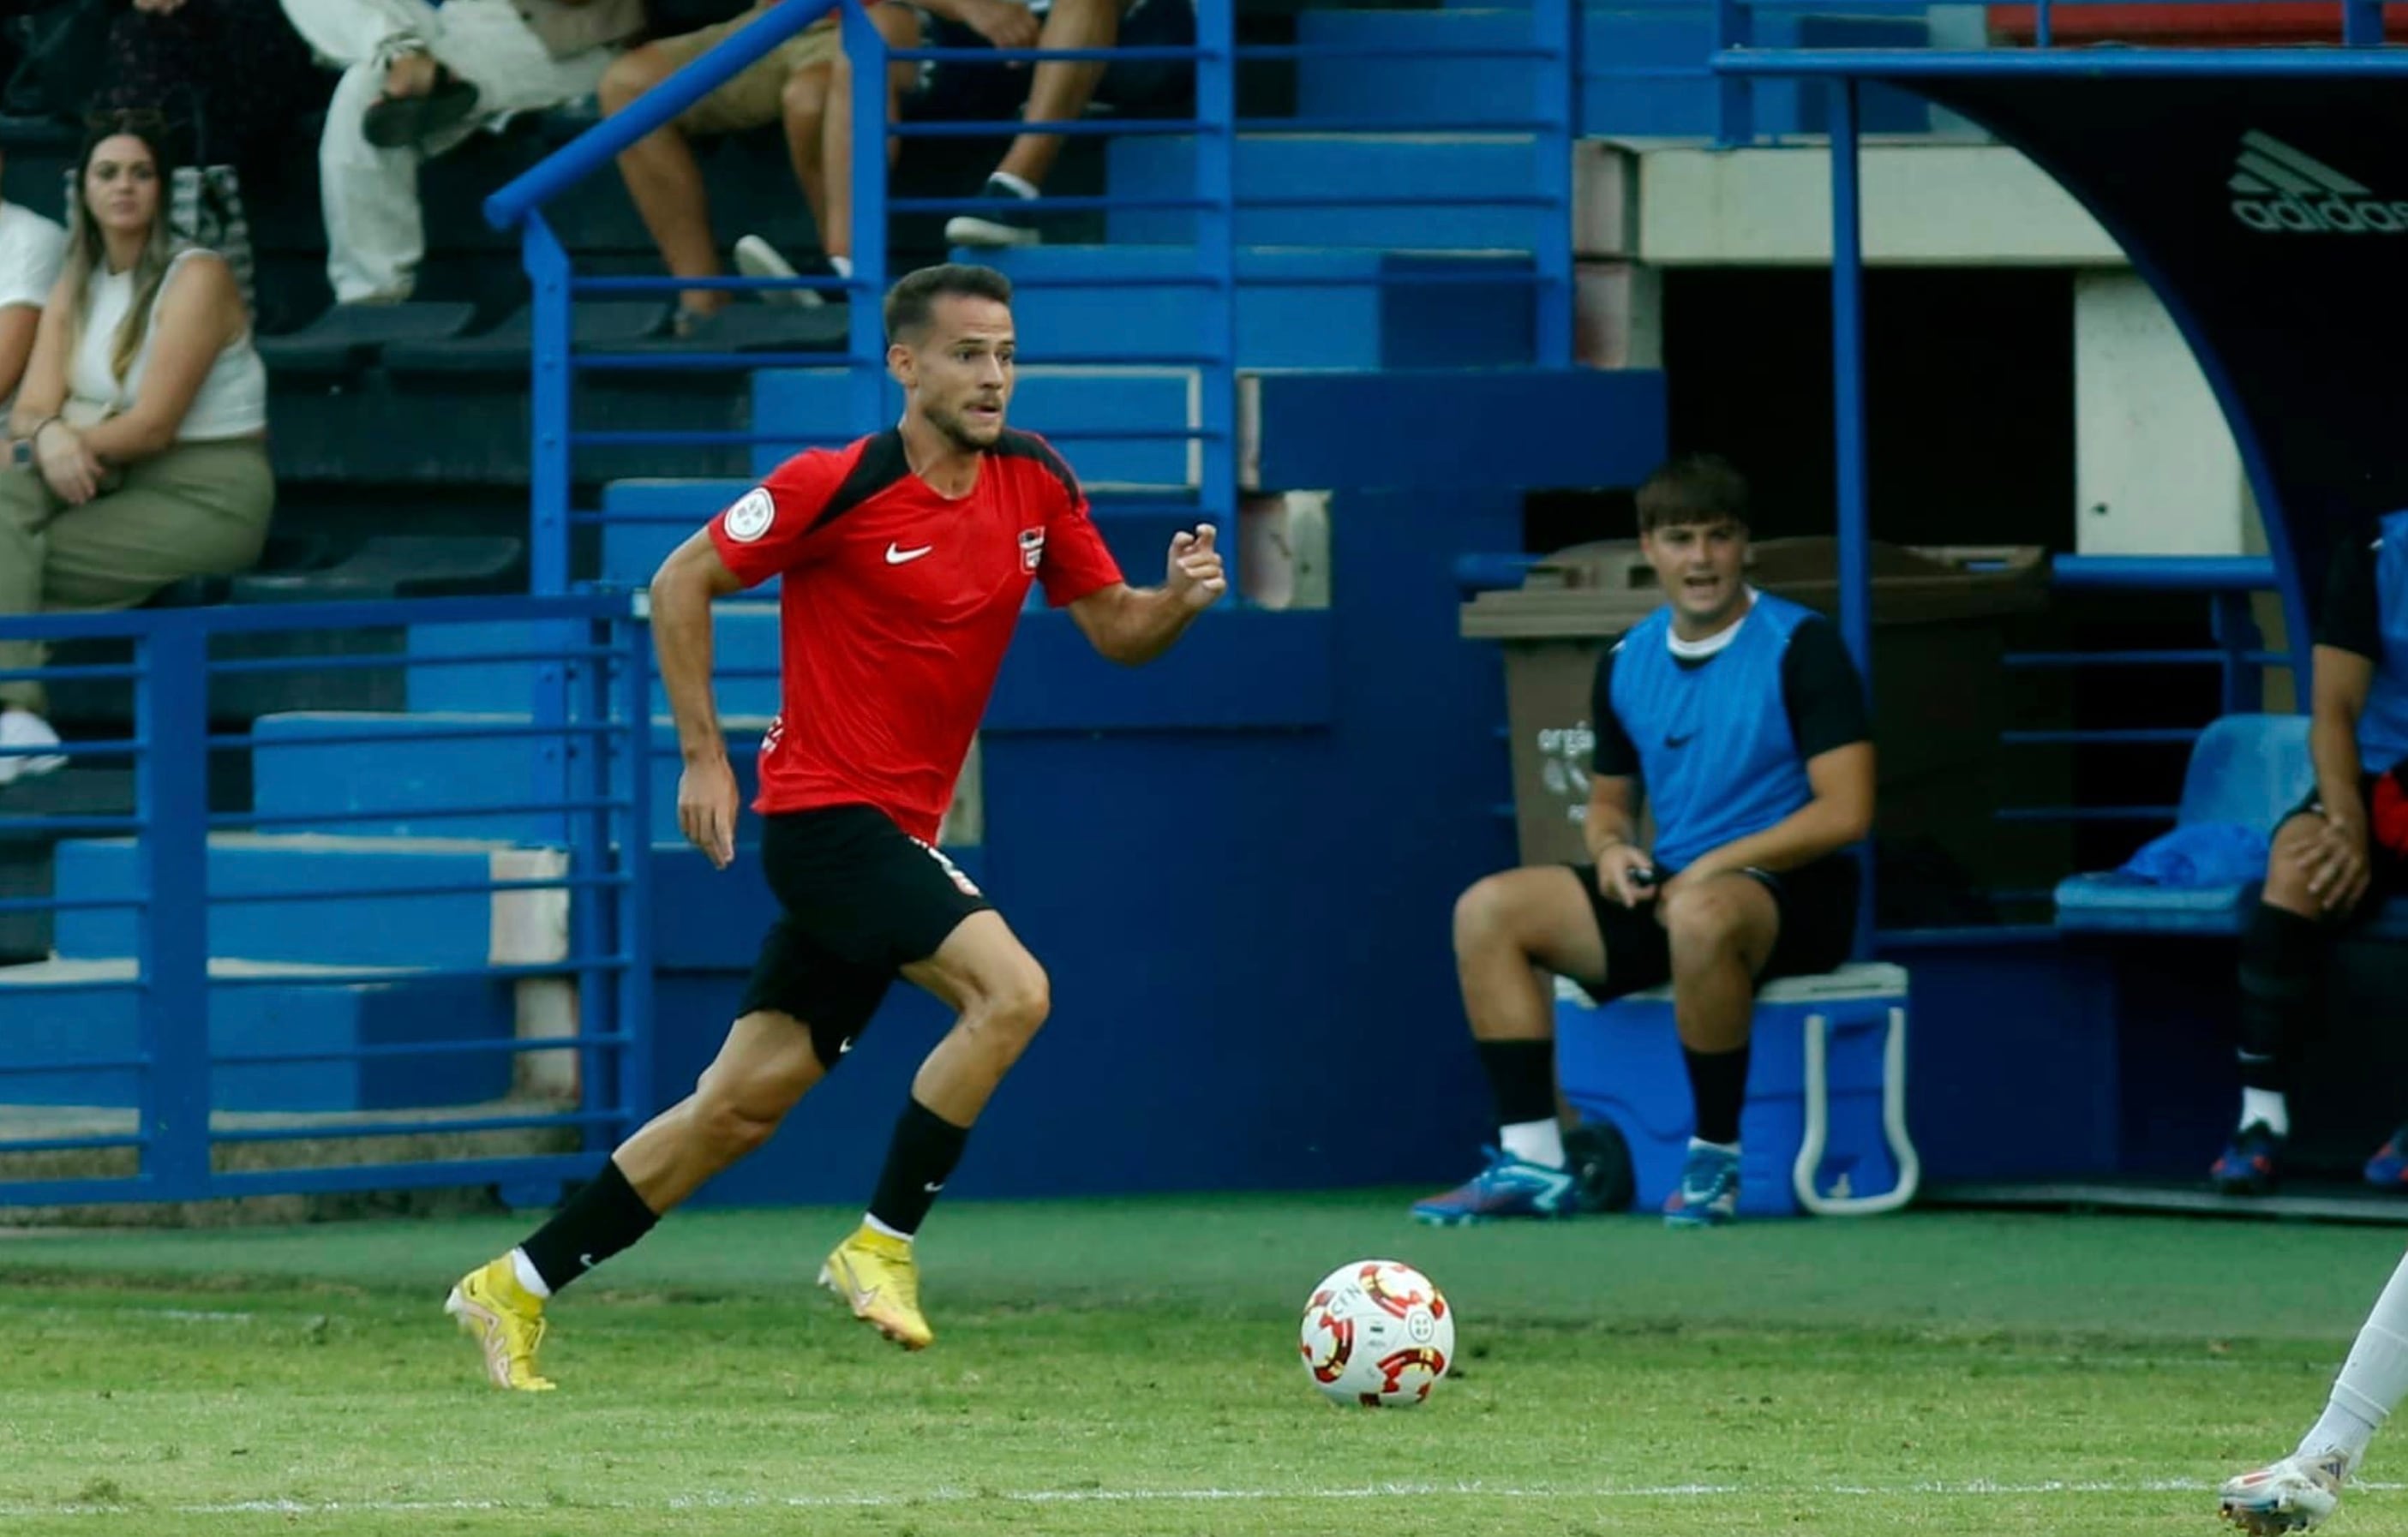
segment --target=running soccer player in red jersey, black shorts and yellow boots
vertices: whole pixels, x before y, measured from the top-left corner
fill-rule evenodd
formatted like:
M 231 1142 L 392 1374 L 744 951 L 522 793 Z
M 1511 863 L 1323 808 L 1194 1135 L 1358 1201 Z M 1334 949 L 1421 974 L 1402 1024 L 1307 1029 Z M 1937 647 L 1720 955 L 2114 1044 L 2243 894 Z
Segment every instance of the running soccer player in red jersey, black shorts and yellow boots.
M 737 1021 L 694 1094 L 619 1144 L 520 1248 L 445 1308 L 496 1388 L 535 1368 L 544 1301 L 643 1238 L 662 1212 L 768 1142 L 852 1050 L 896 976 L 958 1019 L 920 1065 L 862 1226 L 821 1282 L 905 1349 L 932 1339 L 913 1233 L 987 1096 L 1050 1007 L 1045 968 L 937 850 L 970 735 L 1031 583 L 1098 653 L 1149 662 L 1228 581 L 1211 525 L 1170 540 L 1161 588 L 1129 588 L 1069 465 L 1004 426 L 1011 282 L 922 267 L 886 294 L 903 422 L 780 465 L 653 578 L 653 638 L 686 759 L 677 819 L 734 858 L 737 781 L 710 701 L 710 600 L 783 576 L 783 708 L 761 740 L 761 865 L 783 908 Z

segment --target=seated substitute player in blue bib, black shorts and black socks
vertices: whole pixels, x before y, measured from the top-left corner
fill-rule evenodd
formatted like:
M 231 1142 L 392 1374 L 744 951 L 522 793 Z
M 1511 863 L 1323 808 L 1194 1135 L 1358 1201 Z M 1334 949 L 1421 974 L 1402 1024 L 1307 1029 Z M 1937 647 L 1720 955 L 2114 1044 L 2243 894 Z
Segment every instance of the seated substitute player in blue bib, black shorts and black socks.
M 1755 983 L 1830 971 L 1854 944 L 1845 850 L 1873 826 L 1864 679 L 1828 619 L 1746 585 L 1748 487 L 1731 465 L 1657 470 L 1637 513 L 1669 602 L 1597 665 L 1589 862 L 1491 874 L 1454 903 L 1500 1144 L 1469 1183 L 1416 1202 L 1421 1221 L 1580 1209 L 1546 973 L 1597 1000 L 1674 985 L 1695 1135 L 1664 1219 L 1729 1221 Z M 1637 843 L 1642 795 L 1652 848 Z

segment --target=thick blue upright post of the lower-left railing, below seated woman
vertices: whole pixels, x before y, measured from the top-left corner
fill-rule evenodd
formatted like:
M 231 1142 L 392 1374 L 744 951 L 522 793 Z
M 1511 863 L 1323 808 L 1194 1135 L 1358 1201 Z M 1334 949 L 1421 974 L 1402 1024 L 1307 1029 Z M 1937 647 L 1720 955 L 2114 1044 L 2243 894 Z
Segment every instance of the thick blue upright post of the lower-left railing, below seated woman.
M 135 641 L 142 660 L 140 1026 L 142 1173 L 159 1200 L 209 1192 L 209 634 L 164 612 Z

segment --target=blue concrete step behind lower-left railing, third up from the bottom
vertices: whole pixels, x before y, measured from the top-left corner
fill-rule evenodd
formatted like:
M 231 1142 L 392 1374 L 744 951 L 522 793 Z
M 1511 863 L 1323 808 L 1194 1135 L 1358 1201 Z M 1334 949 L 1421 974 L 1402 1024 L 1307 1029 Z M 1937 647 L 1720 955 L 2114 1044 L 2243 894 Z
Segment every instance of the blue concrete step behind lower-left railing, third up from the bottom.
M 414 713 L 376 716 L 306 711 L 260 716 L 253 725 L 250 795 L 260 814 L 299 817 L 277 831 L 344 834 L 364 838 L 494 838 L 503 843 L 551 843 L 559 814 L 482 812 L 477 807 L 537 802 L 535 737 L 455 737 L 462 728 L 527 725 L 525 713 Z M 754 744 L 768 725 L 761 716 L 722 716 L 730 761 L 744 805 L 754 797 Z M 426 732 L 426 742 L 330 742 L 354 732 Z M 650 838 L 679 841 L 677 831 L 677 728 L 653 718 L 653 817 Z M 438 812 L 465 809 L 462 817 Z M 349 812 L 364 817 L 344 819 Z M 746 829 L 756 824 L 746 819 Z

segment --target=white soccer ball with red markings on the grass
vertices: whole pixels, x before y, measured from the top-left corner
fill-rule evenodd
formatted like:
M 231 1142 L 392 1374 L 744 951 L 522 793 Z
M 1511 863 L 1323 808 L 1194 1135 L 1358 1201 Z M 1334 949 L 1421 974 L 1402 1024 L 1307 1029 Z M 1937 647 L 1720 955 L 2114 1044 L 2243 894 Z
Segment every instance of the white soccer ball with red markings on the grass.
M 1411 1409 L 1447 1376 L 1454 1311 L 1411 1265 L 1356 1260 L 1312 1289 L 1298 1349 L 1329 1402 Z

